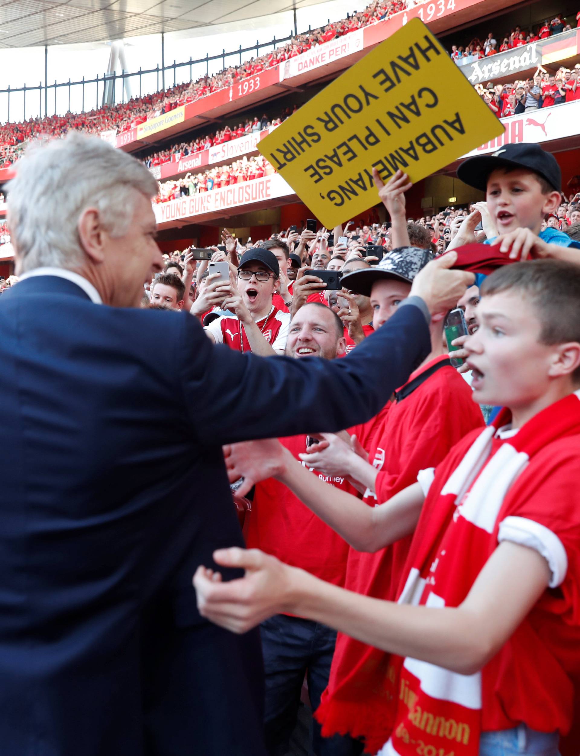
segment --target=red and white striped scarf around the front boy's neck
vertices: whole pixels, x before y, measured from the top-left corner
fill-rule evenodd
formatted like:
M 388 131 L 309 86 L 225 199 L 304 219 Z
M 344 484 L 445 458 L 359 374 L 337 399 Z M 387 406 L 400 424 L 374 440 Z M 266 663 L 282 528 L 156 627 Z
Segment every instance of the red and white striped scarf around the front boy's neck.
M 498 524 L 506 514 L 504 499 L 513 482 L 538 451 L 557 439 L 580 434 L 578 395 L 568 395 L 532 417 L 490 459 L 497 430 L 510 423 L 510 412 L 503 410 L 475 439 L 439 493 L 430 491 L 425 504 L 429 516 L 423 513 L 420 538 L 411 545 L 408 577 L 398 603 L 430 607 L 461 603 L 497 547 Z M 447 550 L 455 552 L 455 569 L 445 571 L 439 559 Z M 467 569 L 457 569 L 457 553 L 465 556 Z M 389 677 L 397 680 L 391 689 L 396 714 L 380 756 L 416 756 L 418 743 L 423 744 L 424 754 L 452 751 L 454 756 L 477 756 L 482 672 L 457 674 L 409 657 L 392 657 L 391 662 Z

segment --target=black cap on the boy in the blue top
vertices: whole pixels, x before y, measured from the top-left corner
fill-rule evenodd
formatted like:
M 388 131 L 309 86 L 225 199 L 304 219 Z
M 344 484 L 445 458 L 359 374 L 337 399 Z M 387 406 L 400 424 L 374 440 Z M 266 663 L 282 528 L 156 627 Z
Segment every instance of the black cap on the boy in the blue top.
M 539 144 L 504 144 L 491 155 L 468 157 L 457 168 L 457 178 L 481 191 L 487 188 L 489 175 L 496 168 L 527 168 L 545 178 L 551 187 L 560 191 L 562 172 L 556 158 L 542 150 Z

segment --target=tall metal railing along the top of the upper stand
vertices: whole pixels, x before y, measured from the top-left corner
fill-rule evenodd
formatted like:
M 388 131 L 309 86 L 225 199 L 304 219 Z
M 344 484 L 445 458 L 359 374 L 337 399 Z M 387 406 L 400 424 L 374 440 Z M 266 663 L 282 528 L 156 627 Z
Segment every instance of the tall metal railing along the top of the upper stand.
M 328 23 L 330 23 L 330 19 L 328 20 Z M 306 34 L 311 32 L 312 29 L 309 26 L 308 32 L 304 33 Z M 14 122 L 20 122 L 25 121 L 30 117 L 36 118 L 38 116 L 48 116 L 54 115 L 56 113 L 84 113 L 87 110 L 98 110 L 100 107 L 103 107 L 104 104 L 106 104 L 105 93 L 106 91 L 108 91 L 108 88 L 110 88 L 111 85 L 113 90 L 113 97 L 112 102 L 109 102 L 109 104 L 115 105 L 124 103 L 129 101 L 129 98 L 126 97 L 126 82 L 129 82 L 130 84 L 135 82 L 135 92 L 132 93 L 132 96 L 142 97 L 144 95 L 149 95 L 152 92 L 160 91 L 161 89 L 171 88 L 176 84 L 191 82 L 194 79 L 194 67 L 200 67 L 200 71 L 196 71 L 195 79 L 197 80 L 204 76 L 204 66 L 205 75 L 209 76 L 210 64 L 212 64 L 212 62 L 215 60 L 222 60 L 222 68 L 220 70 L 224 70 L 225 68 L 233 65 L 241 65 L 245 60 L 248 60 L 248 57 L 243 57 L 244 55 L 248 53 L 253 54 L 253 52 L 256 51 L 256 57 L 259 57 L 259 55 L 261 54 L 260 51 L 265 51 L 265 48 L 271 48 L 272 50 L 275 50 L 279 45 L 283 45 L 285 42 L 290 41 L 290 39 L 293 39 L 295 36 L 295 33 L 293 33 L 293 31 L 290 31 L 290 34 L 287 37 L 282 37 L 281 39 L 277 39 L 274 36 L 274 38 L 269 42 L 259 42 L 259 40 L 256 40 L 256 45 L 252 45 L 251 47 L 243 48 L 240 45 L 237 50 L 226 52 L 224 49 L 221 53 L 216 55 L 209 55 L 206 53 L 205 57 L 198 58 L 197 60 L 193 60 L 190 57 L 189 60 L 185 60 L 182 63 L 177 63 L 174 60 L 172 64 L 169 64 L 167 66 L 160 66 L 159 64 L 157 64 L 155 68 L 150 68 L 148 70 L 142 70 L 142 68 L 140 67 L 138 71 L 134 71 L 132 73 L 127 73 L 126 71 L 123 71 L 123 73 L 104 73 L 103 76 L 97 76 L 95 79 L 85 79 L 85 77 L 83 76 L 81 81 L 79 82 L 72 82 L 69 79 L 67 82 L 57 82 L 55 80 L 54 84 L 48 84 L 48 82 L 40 82 L 37 86 L 24 85 L 23 87 L 17 88 L 11 88 L 10 86 L 8 86 L 5 89 L 0 89 L 0 107 L 2 107 L 2 105 L 6 106 L 6 122 L 10 122 L 11 120 Z M 228 60 L 227 64 L 226 60 Z M 178 70 L 181 72 L 182 69 L 187 67 L 189 67 L 189 79 L 181 77 L 178 78 Z M 173 83 L 171 83 L 171 72 L 173 72 Z M 212 74 L 213 73 L 219 73 L 219 70 L 212 70 Z M 169 76 L 169 81 L 167 80 L 167 76 Z M 151 77 L 150 80 L 153 82 L 153 85 L 144 87 L 144 77 Z M 79 88 L 76 90 L 76 92 L 78 93 L 78 91 L 80 91 L 81 93 L 80 110 L 76 108 L 75 110 L 71 111 L 71 91 L 73 91 L 73 88 Z M 133 87 L 130 86 L 129 91 L 132 91 L 132 89 Z M 65 103 L 67 102 L 68 96 L 68 105 L 66 108 L 63 107 L 62 98 L 60 98 L 60 103 L 57 101 L 57 94 L 60 94 L 60 91 L 64 92 Z M 51 93 L 50 95 L 49 92 Z M 14 105 L 15 97 L 17 97 L 18 101 L 21 100 L 21 102 L 19 102 L 16 106 Z M 39 103 L 38 110 L 36 110 L 35 108 L 34 112 L 31 112 L 29 114 L 26 113 L 27 97 L 29 106 L 31 98 L 33 102 L 36 98 L 38 98 Z M 2 98 L 8 98 L 8 102 L 3 100 Z M 57 107 L 59 104 L 60 107 Z M 18 113 L 22 113 L 22 117 L 20 117 Z

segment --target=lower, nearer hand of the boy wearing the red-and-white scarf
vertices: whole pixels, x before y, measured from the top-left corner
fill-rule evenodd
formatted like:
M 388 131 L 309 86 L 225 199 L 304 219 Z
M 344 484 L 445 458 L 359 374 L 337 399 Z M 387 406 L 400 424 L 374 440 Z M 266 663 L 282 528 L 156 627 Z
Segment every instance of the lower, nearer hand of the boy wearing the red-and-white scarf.
M 193 583 L 202 617 L 240 634 L 287 609 L 294 568 L 259 549 L 219 549 L 213 559 L 222 567 L 241 568 L 245 575 L 224 583 L 219 572 L 200 565 Z

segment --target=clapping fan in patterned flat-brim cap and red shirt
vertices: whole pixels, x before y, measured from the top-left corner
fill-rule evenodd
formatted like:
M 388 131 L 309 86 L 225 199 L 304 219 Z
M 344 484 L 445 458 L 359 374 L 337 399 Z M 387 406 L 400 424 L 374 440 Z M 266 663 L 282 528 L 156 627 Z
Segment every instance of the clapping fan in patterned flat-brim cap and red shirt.
M 360 268 L 346 277 L 350 290 L 370 295 L 374 327 L 395 313 L 399 302 L 409 295 L 414 275 L 430 257 L 425 249 L 403 247 L 379 265 Z M 302 461 L 327 475 L 337 465 L 344 467 L 371 507 L 412 485 L 426 460 L 433 460 L 429 465 L 436 466 L 467 432 L 483 426 L 471 389 L 451 367 L 442 344 L 442 318 L 436 316 L 431 324 L 432 351 L 395 395 L 396 401 L 375 432 L 368 460 L 355 453 L 352 443 L 346 445 L 336 435 L 324 434 L 324 442 L 313 445 L 310 454 L 302 454 Z M 349 552 L 345 587 L 393 600 L 410 546 L 411 535 L 375 553 L 361 553 L 355 546 Z M 374 743 L 386 740 L 380 707 L 377 713 L 358 705 L 358 690 L 365 687 L 375 654 L 371 646 L 339 634 L 329 686 L 317 713 L 324 734 L 347 731 Z

